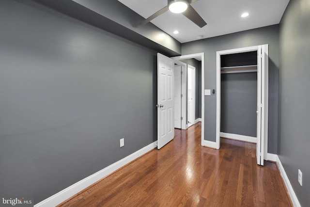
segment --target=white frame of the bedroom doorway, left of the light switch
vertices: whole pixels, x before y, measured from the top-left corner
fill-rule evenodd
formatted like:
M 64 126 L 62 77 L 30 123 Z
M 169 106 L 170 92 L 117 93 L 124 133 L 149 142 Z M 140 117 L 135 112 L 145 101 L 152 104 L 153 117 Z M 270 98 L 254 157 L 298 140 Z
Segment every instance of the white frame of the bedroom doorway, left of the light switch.
M 205 143 L 205 140 L 204 140 L 204 52 L 190 54 L 190 55 L 181 55 L 181 56 L 171 57 L 171 58 L 176 61 L 175 63 L 183 63 L 183 62 L 178 61 L 178 60 L 185 60 L 185 59 L 192 59 L 192 58 L 199 58 L 200 60 L 202 60 L 202 77 L 201 77 L 201 79 L 202 79 L 202 138 L 201 138 L 201 141 L 202 141 L 202 146 L 204 146 L 205 145 L 204 144 Z M 185 64 L 185 63 L 183 63 L 183 64 Z M 186 73 L 183 73 L 183 74 L 186 74 Z M 183 79 L 182 79 L 182 81 L 183 81 Z M 185 99 L 185 98 L 183 98 L 183 99 Z M 185 108 L 185 107 L 183 107 L 183 108 Z

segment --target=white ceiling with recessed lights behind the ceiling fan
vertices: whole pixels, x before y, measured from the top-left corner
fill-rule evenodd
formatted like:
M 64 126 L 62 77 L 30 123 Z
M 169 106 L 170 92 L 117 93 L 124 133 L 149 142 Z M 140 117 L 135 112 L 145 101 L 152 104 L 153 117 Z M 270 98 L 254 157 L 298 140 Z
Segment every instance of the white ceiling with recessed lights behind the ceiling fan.
M 167 0 L 119 0 L 124 5 L 147 18 L 167 6 Z M 156 17 L 151 22 L 181 43 L 214 37 L 233 32 L 279 24 L 290 0 L 198 0 L 191 6 L 207 22 L 198 27 L 182 14 L 170 11 Z M 249 16 L 242 18 L 241 14 Z M 179 34 L 173 31 L 178 30 Z

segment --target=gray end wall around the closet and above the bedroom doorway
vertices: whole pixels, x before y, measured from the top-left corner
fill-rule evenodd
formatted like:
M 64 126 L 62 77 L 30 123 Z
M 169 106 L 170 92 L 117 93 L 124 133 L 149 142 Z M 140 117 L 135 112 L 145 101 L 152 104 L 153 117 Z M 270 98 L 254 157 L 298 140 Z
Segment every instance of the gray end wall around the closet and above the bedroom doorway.
M 182 55 L 204 52 L 204 88 L 216 89 L 216 52 L 269 44 L 268 152 L 278 150 L 279 25 L 182 44 Z M 216 95 L 204 96 L 204 140 L 216 141 Z

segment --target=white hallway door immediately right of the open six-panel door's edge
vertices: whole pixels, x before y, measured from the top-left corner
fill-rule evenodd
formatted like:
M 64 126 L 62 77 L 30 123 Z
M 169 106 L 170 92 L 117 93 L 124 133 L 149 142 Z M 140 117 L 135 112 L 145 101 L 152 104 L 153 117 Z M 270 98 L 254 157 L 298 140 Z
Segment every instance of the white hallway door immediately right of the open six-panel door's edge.
M 181 65 L 174 66 L 174 128 L 181 128 Z

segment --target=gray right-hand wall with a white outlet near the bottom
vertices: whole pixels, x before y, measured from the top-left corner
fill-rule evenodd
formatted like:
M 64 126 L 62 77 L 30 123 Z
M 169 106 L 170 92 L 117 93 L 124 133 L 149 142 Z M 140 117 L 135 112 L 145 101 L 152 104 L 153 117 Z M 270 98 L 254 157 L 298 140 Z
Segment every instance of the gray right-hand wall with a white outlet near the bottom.
M 310 1 L 291 0 L 280 22 L 279 158 L 302 207 L 310 206 L 309 25 Z

